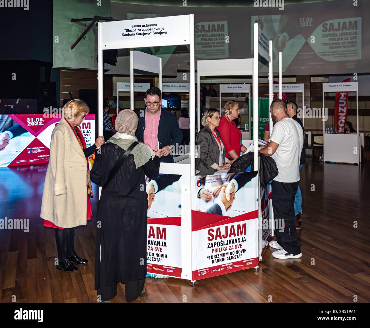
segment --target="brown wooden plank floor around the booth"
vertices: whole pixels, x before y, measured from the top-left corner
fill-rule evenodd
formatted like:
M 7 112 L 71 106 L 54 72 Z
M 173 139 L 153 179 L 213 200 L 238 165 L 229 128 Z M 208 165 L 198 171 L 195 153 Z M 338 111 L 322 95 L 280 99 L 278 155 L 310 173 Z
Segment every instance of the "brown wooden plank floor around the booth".
M 277 260 L 268 249 L 260 268 L 196 282 L 147 278 L 135 302 L 358 302 L 370 301 L 370 161 L 312 163 L 301 170 L 302 258 Z M 96 220 L 76 232 L 75 248 L 89 260 L 76 274 L 55 269 L 54 231 L 40 219 L 45 165 L 0 168 L 0 218 L 30 220 L 30 231 L 0 230 L 1 302 L 96 302 Z M 97 189 L 95 186 L 95 195 Z M 94 198 L 92 210 L 96 212 Z M 354 221 L 357 228 L 354 228 Z M 312 261 L 314 260 L 314 265 Z M 125 302 L 119 284 L 113 302 Z

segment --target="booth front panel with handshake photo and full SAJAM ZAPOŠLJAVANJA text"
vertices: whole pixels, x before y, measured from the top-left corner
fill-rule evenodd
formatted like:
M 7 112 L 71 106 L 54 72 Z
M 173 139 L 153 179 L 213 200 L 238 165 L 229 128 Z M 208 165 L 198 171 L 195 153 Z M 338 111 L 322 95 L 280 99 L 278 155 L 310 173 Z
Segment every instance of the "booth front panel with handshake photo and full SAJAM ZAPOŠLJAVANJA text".
M 194 179 L 192 280 L 256 267 L 258 172 Z

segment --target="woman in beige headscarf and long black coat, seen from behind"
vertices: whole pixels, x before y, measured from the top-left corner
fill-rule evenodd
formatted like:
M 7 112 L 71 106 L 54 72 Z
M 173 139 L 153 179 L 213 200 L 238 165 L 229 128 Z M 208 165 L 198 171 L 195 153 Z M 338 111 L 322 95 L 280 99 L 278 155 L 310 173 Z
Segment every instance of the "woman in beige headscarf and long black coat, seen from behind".
M 98 301 L 117 295 L 117 282 L 125 284 L 126 301 L 134 301 L 145 291 L 147 274 L 147 209 L 145 175 L 157 178 L 161 150 L 154 152 L 137 144 L 107 184 L 115 164 L 137 142 L 138 116 L 121 111 L 115 121 L 117 133 L 102 145 L 91 170 L 91 181 L 103 186 L 97 204 L 95 289 Z

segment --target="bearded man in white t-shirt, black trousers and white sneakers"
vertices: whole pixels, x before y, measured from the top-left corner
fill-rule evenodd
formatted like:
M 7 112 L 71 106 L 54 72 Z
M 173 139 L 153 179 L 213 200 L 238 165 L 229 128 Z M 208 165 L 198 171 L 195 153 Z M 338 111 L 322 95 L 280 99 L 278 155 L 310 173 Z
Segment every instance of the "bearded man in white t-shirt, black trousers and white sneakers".
M 299 184 L 299 160 L 303 148 L 303 133 L 300 125 L 286 114 L 286 104 L 275 99 L 270 105 L 273 122 L 269 143 L 259 152 L 271 156 L 279 174 L 272 181 L 272 207 L 274 217 L 279 220 L 280 230 L 275 229 L 277 241 L 270 247 L 278 251 L 273 257 L 280 259 L 302 257 L 297 243 L 297 229 L 294 213 L 294 198 Z

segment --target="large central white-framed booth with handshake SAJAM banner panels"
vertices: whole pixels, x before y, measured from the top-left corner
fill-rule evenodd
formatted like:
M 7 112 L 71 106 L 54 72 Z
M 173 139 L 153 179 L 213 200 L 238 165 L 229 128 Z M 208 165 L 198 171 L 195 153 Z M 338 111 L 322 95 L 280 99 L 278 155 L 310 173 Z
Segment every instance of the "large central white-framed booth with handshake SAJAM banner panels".
M 127 33 L 127 30 L 130 32 Z M 132 33 L 135 30 L 136 33 Z M 135 32 L 134 31 L 134 32 Z M 160 34 L 159 34 L 160 32 Z M 258 56 L 264 57 L 272 76 L 271 41 L 269 42 L 254 24 L 254 58 L 239 60 L 198 61 L 198 88 L 200 75 L 217 75 L 216 69 L 228 68 L 224 75 L 253 76 L 253 97 L 258 98 Z M 190 151 L 188 157 L 176 163 L 161 163 L 159 176 L 146 180 L 147 190 L 153 186 L 155 201 L 148 210 L 147 272 L 191 280 L 226 274 L 229 272 L 258 269 L 267 247 L 272 227 L 269 185 L 259 183 L 258 152 L 254 154 L 255 171 L 242 173 L 216 172 L 214 175 L 195 174 L 195 131 L 200 127 L 198 108 L 195 121 L 195 58 L 194 15 L 159 17 L 128 21 L 98 23 L 98 54 L 121 48 L 141 48 L 169 45 L 189 46 L 189 83 L 172 85 L 162 83 L 161 60 L 156 56 L 130 51 L 130 83 L 117 84 L 118 91 L 130 90 L 131 108 L 134 104 L 134 70 L 158 74 L 158 87 L 162 91 L 189 92 Z M 153 58 L 154 57 L 154 58 Z M 228 63 L 225 65 L 224 63 Z M 212 66 L 210 66 L 212 65 Z M 99 62 L 98 97 L 99 114 L 103 104 L 103 64 Z M 209 74 L 212 73 L 212 74 Z M 186 90 L 186 91 L 185 91 Z M 118 95 L 118 93 L 117 93 Z M 272 98 L 272 79 L 270 79 Z M 255 98 L 255 99 L 256 99 Z M 198 92 L 198 104 L 199 104 Z M 258 124 L 258 101 L 253 102 L 253 121 Z M 101 116 L 100 116 L 101 117 Z M 102 134 L 102 120 L 99 120 Z M 253 138 L 258 144 L 258 134 Z M 159 145 L 159 148 L 164 145 Z M 223 186 L 235 187 L 232 208 L 226 204 Z M 212 192 L 211 201 L 204 201 L 202 189 Z M 101 192 L 101 190 L 100 190 Z M 149 193 L 149 191 L 147 191 Z

